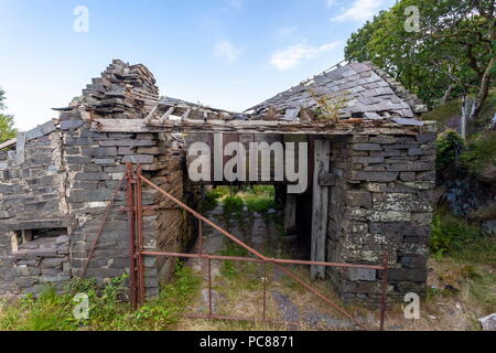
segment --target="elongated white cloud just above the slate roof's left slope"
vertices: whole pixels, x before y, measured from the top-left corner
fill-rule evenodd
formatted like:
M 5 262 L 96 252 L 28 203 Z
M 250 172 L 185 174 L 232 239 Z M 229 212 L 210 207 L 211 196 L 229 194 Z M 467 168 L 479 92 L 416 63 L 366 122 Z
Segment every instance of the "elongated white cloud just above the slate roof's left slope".
M 312 46 L 303 43 L 295 44 L 273 53 L 270 58 L 270 64 L 279 71 L 287 71 L 296 66 L 303 60 L 311 60 L 321 53 L 333 50 L 338 44 L 339 42 L 333 42 L 321 46 Z

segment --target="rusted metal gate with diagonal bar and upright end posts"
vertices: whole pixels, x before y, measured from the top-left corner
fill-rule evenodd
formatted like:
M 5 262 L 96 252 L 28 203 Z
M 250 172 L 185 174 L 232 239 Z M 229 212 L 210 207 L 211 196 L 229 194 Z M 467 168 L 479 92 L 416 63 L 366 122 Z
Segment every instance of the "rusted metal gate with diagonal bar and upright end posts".
M 380 296 L 380 325 L 379 330 L 384 331 L 385 324 L 385 313 L 387 309 L 386 297 L 388 289 L 388 254 L 386 253 L 382 258 L 381 265 L 354 265 L 354 264 L 338 264 L 338 263 L 320 263 L 320 261 L 306 261 L 306 260 L 292 260 L 292 259 L 279 259 L 266 257 L 262 254 L 258 253 L 244 242 L 236 238 L 234 235 L 223 229 L 208 218 L 204 217 L 183 202 L 175 199 L 173 195 L 155 185 L 149 179 L 142 175 L 141 165 L 138 164 L 137 170 L 134 171 L 134 167 L 131 162 L 127 163 L 127 171 L 125 175 L 127 180 L 127 214 L 128 214 L 128 225 L 129 225 L 129 257 L 130 257 L 130 300 L 132 308 L 134 310 L 138 309 L 139 306 L 142 306 L 145 301 L 144 296 L 144 257 L 145 256 L 164 256 L 164 257 L 175 257 L 175 258 L 198 258 L 204 259 L 207 266 L 208 274 L 208 314 L 198 314 L 198 313 L 186 313 L 184 317 L 187 318 L 196 318 L 196 319 L 207 319 L 207 320 L 236 320 L 236 321 L 252 321 L 252 322 L 268 322 L 268 323 L 280 323 L 288 325 L 298 325 L 301 324 L 299 322 L 288 322 L 288 321 L 278 321 L 268 319 L 266 317 L 267 312 L 267 265 L 270 264 L 282 272 L 284 272 L 288 277 L 293 279 L 295 282 L 301 285 L 308 291 L 313 293 L 315 297 L 320 298 L 328 306 L 341 312 L 343 315 L 348 318 L 353 323 L 360 327 L 364 330 L 369 330 L 364 323 L 359 322 L 356 318 L 354 318 L 351 313 L 348 313 L 345 309 L 338 307 L 336 303 L 332 302 L 324 295 L 322 295 L 316 289 L 312 288 L 309 284 L 299 278 L 294 272 L 283 267 L 282 265 L 314 265 L 314 266 L 324 266 L 324 267 L 339 267 L 339 268 L 363 268 L 363 269 L 375 269 L 382 271 L 382 282 L 381 282 L 381 296 Z M 169 252 L 151 252 L 144 249 L 144 238 L 143 238 L 143 211 L 148 210 L 157 210 L 154 206 L 143 206 L 142 205 L 142 183 L 148 184 L 150 188 L 159 191 L 170 201 L 174 202 L 182 210 L 192 214 L 196 220 L 198 220 L 198 247 L 200 252 L 197 254 L 182 254 L 182 253 L 169 253 Z M 220 234 L 241 246 L 249 253 L 251 253 L 254 257 L 236 257 L 236 256 L 217 256 L 217 255 L 208 255 L 203 253 L 203 224 L 206 223 L 212 226 L 214 229 L 218 231 Z M 234 260 L 234 261 L 249 261 L 249 263 L 258 263 L 263 266 L 263 312 L 262 319 L 256 318 L 240 318 L 240 317 L 229 317 L 229 315 L 217 315 L 213 313 L 212 310 L 212 260 Z

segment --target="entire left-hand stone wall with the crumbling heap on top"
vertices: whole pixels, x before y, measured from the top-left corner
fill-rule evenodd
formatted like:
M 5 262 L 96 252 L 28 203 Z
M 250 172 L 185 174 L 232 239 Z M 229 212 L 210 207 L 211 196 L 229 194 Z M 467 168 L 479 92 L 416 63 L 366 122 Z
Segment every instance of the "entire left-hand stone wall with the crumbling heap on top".
M 17 149 L 0 153 L 2 292 L 36 292 L 46 278 L 66 280 L 82 274 L 107 206 L 125 176 L 127 162 L 140 163 L 144 176 L 179 200 L 197 201 L 194 188 L 184 194 L 184 142 L 180 137 L 103 133 L 90 129 L 93 118 L 142 119 L 148 115 L 157 101 L 158 89 L 153 75 L 144 66 L 114 61 L 83 93 L 69 107 L 60 109 L 60 118 L 51 121 L 50 127 L 42 126 L 19 135 Z M 115 206 L 88 264 L 86 277 L 105 281 L 129 271 L 125 189 L 126 182 L 116 194 Z M 188 217 L 147 185 L 143 185 L 142 204 L 154 206 L 143 214 L 145 248 L 185 252 L 191 237 L 196 234 Z M 36 259 L 41 264 L 58 261 L 56 269 L 50 270 L 52 277 L 31 264 L 33 252 L 40 250 L 31 247 L 36 248 L 36 242 L 41 240 L 29 240 L 21 245 L 26 248 L 17 253 L 11 244 L 12 232 L 45 228 L 65 228 L 71 240 L 69 254 L 64 255 L 63 263 L 57 256 Z M 145 259 L 149 298 L 158 295 L 160 280 L 174 268 L 172 261 Z M 56 270 L 61 272 L 55 274 Z

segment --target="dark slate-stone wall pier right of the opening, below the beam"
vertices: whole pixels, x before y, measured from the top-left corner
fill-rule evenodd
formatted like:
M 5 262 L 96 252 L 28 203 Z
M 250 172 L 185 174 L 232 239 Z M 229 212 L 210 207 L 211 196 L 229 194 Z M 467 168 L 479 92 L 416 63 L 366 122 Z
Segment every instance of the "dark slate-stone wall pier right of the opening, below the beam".
M 389 298 L 424 293 L 435 132 L 332 138 L 327 260 L 377 265 L 389 257 Z M 375 304 L 381 272 L 327 269 L 342 298 Z

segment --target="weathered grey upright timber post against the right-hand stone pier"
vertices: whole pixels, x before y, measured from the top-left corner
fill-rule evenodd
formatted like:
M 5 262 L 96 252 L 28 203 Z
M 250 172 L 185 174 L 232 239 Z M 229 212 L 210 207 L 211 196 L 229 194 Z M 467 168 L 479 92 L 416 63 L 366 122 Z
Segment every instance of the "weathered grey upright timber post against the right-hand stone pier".
M 325 261 L 325 243 L 327 239 L 328 186 L 319 184 L 319 175 L 328 173 L 331 168 L 331 141 L 315 140 L 312 200 L 312 261 Z M 325 279 L 323 266 L 311 266 L 313 279 Z

